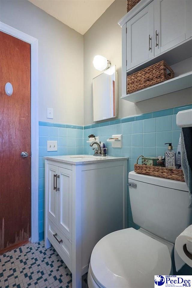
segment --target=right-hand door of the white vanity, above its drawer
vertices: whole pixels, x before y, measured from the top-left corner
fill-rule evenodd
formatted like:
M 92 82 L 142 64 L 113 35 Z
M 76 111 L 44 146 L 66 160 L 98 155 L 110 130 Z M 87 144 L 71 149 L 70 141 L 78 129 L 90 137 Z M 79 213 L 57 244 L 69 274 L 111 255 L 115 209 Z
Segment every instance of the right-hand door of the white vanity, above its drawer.
M 58 227 L 71 239 L 72 171 L 59 167 L 58 175 Z

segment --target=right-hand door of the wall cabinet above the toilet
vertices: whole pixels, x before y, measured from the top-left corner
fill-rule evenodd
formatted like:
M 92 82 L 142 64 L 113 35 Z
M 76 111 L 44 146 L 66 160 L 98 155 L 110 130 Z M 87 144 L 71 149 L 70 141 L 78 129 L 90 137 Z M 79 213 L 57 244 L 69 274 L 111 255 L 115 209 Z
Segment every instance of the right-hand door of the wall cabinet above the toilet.
M 154 3 L 155 55 L 158 55 L 192 36 L 192 1 L 155 0 Z

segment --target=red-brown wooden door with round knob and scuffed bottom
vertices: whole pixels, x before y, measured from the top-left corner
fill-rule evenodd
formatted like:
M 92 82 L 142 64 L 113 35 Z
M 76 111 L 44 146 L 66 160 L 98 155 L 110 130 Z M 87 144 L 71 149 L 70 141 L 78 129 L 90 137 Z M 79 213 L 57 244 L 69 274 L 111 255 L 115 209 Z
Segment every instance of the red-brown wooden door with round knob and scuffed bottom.
M 0 32 L 0 253 L 31 233 L 31 45 Z M 13 94 L 7 96 L 10 82 Z M 21 152 L 28 157 L 22 158 Z

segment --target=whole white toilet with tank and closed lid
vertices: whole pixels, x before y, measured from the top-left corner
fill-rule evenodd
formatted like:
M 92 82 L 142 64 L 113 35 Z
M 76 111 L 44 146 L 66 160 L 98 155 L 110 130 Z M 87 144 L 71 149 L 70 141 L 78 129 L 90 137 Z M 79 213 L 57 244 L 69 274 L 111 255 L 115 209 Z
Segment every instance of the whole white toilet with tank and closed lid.
M 150 288 L 154 275 L 172 274 L 176 237 L 191 224 L 185 182 L 129 173 L 133 222 L 94 247 L 88 269 L 89 288 Z

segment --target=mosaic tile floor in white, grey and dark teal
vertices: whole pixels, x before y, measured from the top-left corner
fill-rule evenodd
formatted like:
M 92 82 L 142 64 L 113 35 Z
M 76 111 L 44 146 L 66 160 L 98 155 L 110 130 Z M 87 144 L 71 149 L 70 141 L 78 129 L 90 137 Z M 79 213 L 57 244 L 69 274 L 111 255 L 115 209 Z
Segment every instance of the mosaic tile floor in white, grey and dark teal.
M 53 247 L 28 243 L 0 255 L 0 288 L 12 287 L 71 288 L 72 274 Z

